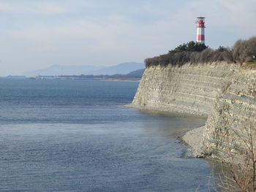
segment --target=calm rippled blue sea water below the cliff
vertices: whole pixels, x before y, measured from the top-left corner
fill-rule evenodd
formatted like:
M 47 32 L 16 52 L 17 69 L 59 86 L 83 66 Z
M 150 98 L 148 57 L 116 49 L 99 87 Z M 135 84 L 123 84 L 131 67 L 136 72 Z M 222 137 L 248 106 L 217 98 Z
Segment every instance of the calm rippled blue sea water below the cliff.
M 207 191 L 173 134 L 203 118 L 140 112 L 138 82 L 0 79 L 0 191 Z

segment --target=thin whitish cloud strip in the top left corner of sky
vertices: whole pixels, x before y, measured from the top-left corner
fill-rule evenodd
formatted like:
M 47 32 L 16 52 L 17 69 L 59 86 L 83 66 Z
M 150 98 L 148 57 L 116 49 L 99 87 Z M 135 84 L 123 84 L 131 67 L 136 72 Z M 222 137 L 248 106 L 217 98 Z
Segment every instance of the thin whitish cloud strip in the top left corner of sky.
M 62 7 L 59 4 L 53 2 L 29 2 L 29 3 L 10 3 L 7 1 L 0 2 L 0 12 L 10 13 L 33 13 L 39 15 L 53 15 L 64 12 L 69 12 L 67 7 Z

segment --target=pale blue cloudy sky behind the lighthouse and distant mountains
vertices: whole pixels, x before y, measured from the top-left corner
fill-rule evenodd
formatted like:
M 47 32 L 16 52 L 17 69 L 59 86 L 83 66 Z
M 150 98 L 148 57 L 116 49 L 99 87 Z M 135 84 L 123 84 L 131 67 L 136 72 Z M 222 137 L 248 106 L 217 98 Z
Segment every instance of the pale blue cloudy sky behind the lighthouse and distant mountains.
M 232 47 L 256 35 L 256 0 L 0 0 L 0 76 L 53 64 L 143 62 L 195 41 Z

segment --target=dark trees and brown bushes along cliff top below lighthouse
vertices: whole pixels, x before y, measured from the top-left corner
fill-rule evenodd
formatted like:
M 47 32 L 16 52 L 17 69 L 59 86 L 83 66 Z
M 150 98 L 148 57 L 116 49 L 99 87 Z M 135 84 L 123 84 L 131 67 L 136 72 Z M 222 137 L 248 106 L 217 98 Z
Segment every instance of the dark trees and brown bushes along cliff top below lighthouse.
M 256 61 L 256 37 L 248 40 L 238 40 L 232 48 L 219 46 L 216 50 L 198 42 L 188 42 L 170 50 L 169 53 L 154 58 L 146 58 L 148 66 L 182 66 L 186 63 L 246 63 Z

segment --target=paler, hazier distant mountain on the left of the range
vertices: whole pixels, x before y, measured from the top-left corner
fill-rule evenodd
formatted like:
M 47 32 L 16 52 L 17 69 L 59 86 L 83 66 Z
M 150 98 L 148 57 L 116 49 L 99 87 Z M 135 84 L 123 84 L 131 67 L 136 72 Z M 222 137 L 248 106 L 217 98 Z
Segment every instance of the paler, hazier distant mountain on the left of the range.
M 62 65 L 53 65 L 46 69 L 38 69 L 30 72 L 24 72 L 23 75 L 27 77 L 34 77 L 38 75 L 43 76 L 55 76 L 55 75 L 73 75 L 73 74 L 88 74 L 95 70 L 103 69 L 105 66 L 92 66 L 92 65 L 84 65 L 84 66 L 62 66 Z

